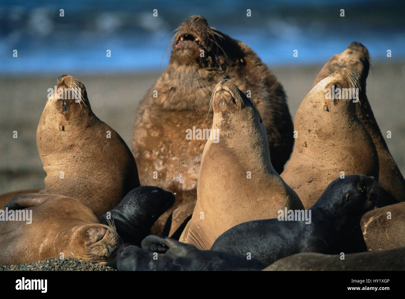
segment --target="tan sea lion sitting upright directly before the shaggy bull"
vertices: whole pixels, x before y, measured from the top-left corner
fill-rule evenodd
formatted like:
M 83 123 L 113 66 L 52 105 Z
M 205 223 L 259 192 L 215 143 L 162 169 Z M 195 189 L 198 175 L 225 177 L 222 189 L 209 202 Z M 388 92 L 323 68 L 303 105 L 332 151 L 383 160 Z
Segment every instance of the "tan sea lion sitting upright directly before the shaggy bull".
M 180 241 L 209 249 L 239 223 L 277 217 L 279 209 L 303 209 L 297 194 L 274 170 L 260 113 L 232 80 L 212 93 L 212 134 L 201 158 L 197 202 Z M 218 141 L 218 142 L 216 142 Z

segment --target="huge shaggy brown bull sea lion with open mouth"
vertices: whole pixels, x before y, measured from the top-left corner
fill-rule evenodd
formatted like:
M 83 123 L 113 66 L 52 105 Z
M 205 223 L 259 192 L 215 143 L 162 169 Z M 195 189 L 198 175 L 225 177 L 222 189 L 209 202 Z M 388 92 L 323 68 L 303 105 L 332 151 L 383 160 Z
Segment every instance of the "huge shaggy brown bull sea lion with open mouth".
M 278 173 L 294 144 L 283 87 L 245 43 L 210 28 L 207 20 L 197 15 L 181 24 L 172 40 L 168 67 L 140 103 L 132 136 L 141 184 L 176 194 L 173 207 L 156 223 L 156 234 L 171 211 L 197 199 L 205 145 L 205 137 L 197 130 L 211 128 L 207 108 L 215 85 L 222 79 L 232 79 L 241 90 L 249 90 L 263 117 L 271 161 Z M 190 131 L 196 132 L 195 140 L 193 136 L 186 138 Z

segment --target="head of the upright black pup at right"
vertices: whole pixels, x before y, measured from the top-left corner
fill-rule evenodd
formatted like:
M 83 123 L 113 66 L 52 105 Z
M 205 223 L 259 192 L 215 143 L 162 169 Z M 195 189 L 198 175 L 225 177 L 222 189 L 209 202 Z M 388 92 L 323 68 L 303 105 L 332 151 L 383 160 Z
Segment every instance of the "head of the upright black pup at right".
M 346 175 L 330 183 L 315 205 L 331 211 L 342 225 L 353 221 L 358 224 L 361 216 L 372 210 L 382 196 L 384 190 L 374 177 Z

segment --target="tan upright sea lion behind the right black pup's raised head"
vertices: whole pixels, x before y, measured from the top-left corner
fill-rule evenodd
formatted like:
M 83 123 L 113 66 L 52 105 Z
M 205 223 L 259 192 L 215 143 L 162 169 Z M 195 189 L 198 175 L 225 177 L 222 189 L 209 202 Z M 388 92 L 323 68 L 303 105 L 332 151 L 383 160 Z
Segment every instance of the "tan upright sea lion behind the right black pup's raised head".
M 357 86 L 350 69 L 338 68 L 315 85 L 298 107 L 294 120 L 298 138 L 281 177 L 306 209 L 336 177 L 361 174 L 378 181 L 375 145 L 355 113 L 360 103 L 347 99 L 350 95 L 343 90 Z M 343 92 L 335 95 L 333 90 Z M 335 96 L 329 98 L 331 94 Z

